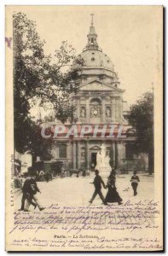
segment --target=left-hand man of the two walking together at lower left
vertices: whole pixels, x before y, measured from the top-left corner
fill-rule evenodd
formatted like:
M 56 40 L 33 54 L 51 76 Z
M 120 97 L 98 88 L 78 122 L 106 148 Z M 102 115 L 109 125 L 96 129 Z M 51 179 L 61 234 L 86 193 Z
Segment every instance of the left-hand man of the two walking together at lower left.
M 26 180 L 23 184 L 23 187 L 22 187 L 22 198 L 21 198 L 21 207 L 18 211 L 24 211 L 25 209 L 25 201 L 26 200 L 29 200 L 30 201 L 30 204 L 32 204 L 32 206 L 34 207 L 34 209 L 37 207 L 36 203 L 32 201 L 32 198 L 30 197 L 29 195 L 29 192 L 28 192 L 28 184 L 29 184 L 29 181 L 31 179 L 30 175 L 28 172 L 25 173 L 25 177 L 26 177 Z

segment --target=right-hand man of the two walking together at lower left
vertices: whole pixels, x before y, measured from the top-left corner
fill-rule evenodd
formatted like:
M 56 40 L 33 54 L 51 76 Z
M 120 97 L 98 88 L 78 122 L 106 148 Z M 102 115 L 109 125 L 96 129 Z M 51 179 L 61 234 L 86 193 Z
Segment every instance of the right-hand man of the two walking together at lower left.
M 39 193 L 41 193 L 41 192 L 38 189 L 38 185 L 36 183 L 35 177 L 33 176 L 33 173 L 32 173 L 32 177 L 29 180 L 29 183 L 27 184 L 27 191 L 28 191 L 28 194 L 30 195 L 30 197 L 28 199 L 26 199 L 25 212 L 29 212 L 28 209 L 31 205 L 31 200 L 35 201 L 35 203 L 37 204 L 40 211 L 43 211 L 43 209 L 45 209 L 45 208 L 41 206 L 40 202 L 38 201 L 38 196 L 37 196 L 37 192 L 39 192 Z

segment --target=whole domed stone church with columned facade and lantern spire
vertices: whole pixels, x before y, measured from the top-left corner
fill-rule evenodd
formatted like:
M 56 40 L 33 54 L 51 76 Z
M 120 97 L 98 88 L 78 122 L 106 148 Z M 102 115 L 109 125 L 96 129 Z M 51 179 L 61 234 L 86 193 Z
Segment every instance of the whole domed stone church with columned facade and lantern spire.
M 86 47 L 72 63 L 73 67 L 83 63 L 76 81 L 78 94 L 72 96 L 72 104 L 76 107 L 74 124 L 80 127 L 79 130 L 83 129 L 84 134 L 77 133 L 71 138 L 57 140 L 55 158 L 67 160 L 69 169 L 93 171 L 96 154 L 104 143 L 111 166 L 126 171 L 128 160 L 130 166 L 134 165 L 131 142 L 135 137 L 129 135 L 131 127 L 126 122 L 129 107 L 123 100 L 125 90 L 119 88 L 113 62 L 97 43 L 93 18 L 87 40 Z M 88 132 L 85 132 L 87 129 Z

